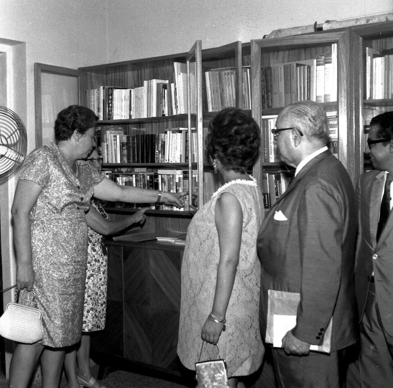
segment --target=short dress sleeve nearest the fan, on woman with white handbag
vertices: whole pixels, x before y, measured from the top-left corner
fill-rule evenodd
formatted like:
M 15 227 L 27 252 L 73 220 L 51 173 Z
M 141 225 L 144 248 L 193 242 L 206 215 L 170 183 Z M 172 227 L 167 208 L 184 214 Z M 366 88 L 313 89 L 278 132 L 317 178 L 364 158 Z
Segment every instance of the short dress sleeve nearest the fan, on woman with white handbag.
M 28 180 L 44 187 L 50 178 L 48 171 L 48 153 L 45 148 L 37 148 L 24 159 L 19 179 Z

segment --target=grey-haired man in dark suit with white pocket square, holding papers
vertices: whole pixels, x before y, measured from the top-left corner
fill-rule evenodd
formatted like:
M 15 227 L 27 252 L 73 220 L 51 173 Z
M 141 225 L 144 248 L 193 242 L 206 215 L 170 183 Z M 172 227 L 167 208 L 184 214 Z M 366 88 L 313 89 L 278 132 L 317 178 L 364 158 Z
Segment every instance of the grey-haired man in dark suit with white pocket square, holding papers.
M 282 337 L 282 348 L 273 348 L 276 379 L 282 388 L 338 387 L 341 350 L 358 336 L 354 189 L 326 147 L 328 122 L 321 106 L 312 101 L 289 105 L 276 127 L 272 132 L 280 158 L 296 172 L 258 235 L 262 337 L 268 290 L 299 293 L 296 325 Z M 311 344 L 323 343 L 331 319 L 331 352 L 310 352 Z

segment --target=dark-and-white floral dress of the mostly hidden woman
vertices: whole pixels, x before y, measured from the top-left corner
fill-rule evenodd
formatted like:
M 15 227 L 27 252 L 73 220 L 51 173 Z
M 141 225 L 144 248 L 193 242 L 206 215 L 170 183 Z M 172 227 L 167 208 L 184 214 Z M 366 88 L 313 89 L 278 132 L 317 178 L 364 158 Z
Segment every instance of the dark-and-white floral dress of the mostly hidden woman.
M 101 213 L 105 220 L 108 220 L 108 214 L 99 202 L 92 200 L 91 205 Z M 103 244 L 103 235 L 88 227 L 85 306 L 83 308 L 82 328 L 84 332 L 105 328 L 108 257 Z

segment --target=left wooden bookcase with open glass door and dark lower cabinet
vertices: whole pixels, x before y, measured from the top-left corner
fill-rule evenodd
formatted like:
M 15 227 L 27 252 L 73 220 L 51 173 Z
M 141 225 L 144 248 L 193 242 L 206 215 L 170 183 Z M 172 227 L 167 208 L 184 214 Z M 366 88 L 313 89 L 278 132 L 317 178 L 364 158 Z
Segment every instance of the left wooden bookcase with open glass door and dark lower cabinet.
M 147 166 L 160 169 L 192 169 L 198 171 L 198 187 L 189 187 L 198 193 L 198 207 L 208 200 L 204 179 L 212 167 L 205 160 L 204 128 L 215 112 L 207 112 L 205 71 L 209 69 L 234 69 L 235 105 L 242 101 L 242 66 L 250 66 L 250 45 L 245 45 L 242 56 L 241 42 L 202 50 L 196 41 L 188 53 L 156 58 L 132 60 L 80 68 L 80 100 L 88 106 L 86 90 L 101 85 L 135 88 L 150 79 L 174 79 L 174 62 L 195 64 L 195 96 L 188 88 L 188 104 L 196 102 L 196 113 L 165 117 L 100 120 L 97 126 L 145 128 L 149 133 L 162 133 L 168 128 L 196 128 L 198 137 L 195 163 L 106 163 L 103 168 L 119 171 L 123 168 Z M 248 47 L 248 48 L 247 48 Z M 233 94 L 232 94 L 233 96 Z M 189 105 L 190 106 L 190 105 Z M 188 106 L 188 107 L 189 107 Z M 190 109 L 188 109 L 190 112 Z M 251 110 L 250 110 L 251 112 Z M 106 207 L 111 217 L 135 211 L 131 207 Z M 144 231 L 156 235 L 184 233 L 195 209 L 185 211 L 149 210 Z M 142 363 L 156 370 L 179 374 L 177 360 L 177 332 L 180 310 L 180 268 L 183 248 L 145 241 L 108 242 L 108 310 L 106 328 L 92 336 L 92 351 L 100 356 L 101 363 L 110 363 L 112 356 L 133 363 Z

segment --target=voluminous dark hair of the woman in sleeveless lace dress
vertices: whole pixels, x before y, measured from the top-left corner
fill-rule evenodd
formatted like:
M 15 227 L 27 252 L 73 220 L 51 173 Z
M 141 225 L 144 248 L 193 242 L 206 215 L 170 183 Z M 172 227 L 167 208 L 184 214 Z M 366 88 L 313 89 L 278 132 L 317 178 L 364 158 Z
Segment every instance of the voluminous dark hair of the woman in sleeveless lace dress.
M 224 168 L 245 173 L 259 154 L 260 130 L 244 110 L 225 108 L 210 121 L 205 146 L 211 159 L 219 159 Z

